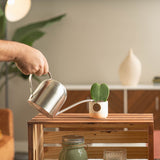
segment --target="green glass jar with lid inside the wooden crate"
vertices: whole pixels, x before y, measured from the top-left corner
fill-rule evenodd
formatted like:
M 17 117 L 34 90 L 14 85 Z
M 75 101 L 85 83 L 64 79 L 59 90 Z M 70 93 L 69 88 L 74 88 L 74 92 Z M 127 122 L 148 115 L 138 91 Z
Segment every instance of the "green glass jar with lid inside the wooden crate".
M 59 160 L 88 160 L 85 146 L 83 136 L 63 136 Z

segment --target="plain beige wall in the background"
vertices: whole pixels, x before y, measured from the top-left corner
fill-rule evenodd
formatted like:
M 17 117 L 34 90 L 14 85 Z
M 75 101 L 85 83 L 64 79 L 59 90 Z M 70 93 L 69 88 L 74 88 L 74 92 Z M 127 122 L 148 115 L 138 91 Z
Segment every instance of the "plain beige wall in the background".
M 61 13 L 67 16 L 43 29 L 47 34 L 34 45 L 48 59 L 55 79 L 64 84 L 120 83 L 118 68 L 130 47 L 142 62 L 141 83 L 159 75 L 159 0 L 32 0 L 27 17 L 8 24 L 9 37 L 19 26 Z M 28 81 L 10 82 L 16 140 L 27 139 L 26 122 L 37 114 L 27 104 L 28 96 Z

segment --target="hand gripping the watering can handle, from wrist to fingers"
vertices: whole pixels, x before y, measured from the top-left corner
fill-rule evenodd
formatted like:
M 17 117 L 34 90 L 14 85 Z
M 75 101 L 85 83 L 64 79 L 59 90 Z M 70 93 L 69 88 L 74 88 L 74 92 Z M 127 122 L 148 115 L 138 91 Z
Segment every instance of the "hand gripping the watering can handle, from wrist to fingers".
M 49 72 L 48 62 L 39 50 L 24 44 L 19 45 L 15 63 L 22 73 L 41 76 Z

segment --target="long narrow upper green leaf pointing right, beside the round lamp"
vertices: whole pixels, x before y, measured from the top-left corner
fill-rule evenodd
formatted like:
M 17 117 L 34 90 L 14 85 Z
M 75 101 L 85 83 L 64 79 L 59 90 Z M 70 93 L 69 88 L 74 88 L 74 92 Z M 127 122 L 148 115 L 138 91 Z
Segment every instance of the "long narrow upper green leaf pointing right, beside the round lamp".
M 17 29 L 15 31 L 12 40 L 21 42 L 23 39 L 25 39 L 25 37 L 27 37 L 29 34 L 31 34 L 31 32 L 33 32 L 34 30 L 43 28 L 43 27 L 45 27 L 46 25 L 48 25 L 50 23 L 59 21 L 64 16 L 65 16 L 65 14 L 62 14 L 60 16 L 57 16 L 57 17 L 54 17 L 54 18 L 50 18 L 48 20 L 44 20 L 44 21 L 40 21 L 40 22 L 29 24 L 27 26 L 23 26 L 23 27 L 21 27 L 21 28 L 19 28 L 19 29 Z

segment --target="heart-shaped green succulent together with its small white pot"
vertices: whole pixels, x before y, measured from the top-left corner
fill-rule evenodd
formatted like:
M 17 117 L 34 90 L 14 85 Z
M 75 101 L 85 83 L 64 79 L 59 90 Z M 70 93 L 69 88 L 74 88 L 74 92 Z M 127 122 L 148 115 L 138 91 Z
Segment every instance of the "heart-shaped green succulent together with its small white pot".
M 91 86 L 91 98 L 89 102 L 89 115 L 93 118 L 106 118 L 108 116 L 109 88 L 106 84 L 94 83 Z

